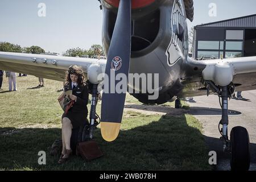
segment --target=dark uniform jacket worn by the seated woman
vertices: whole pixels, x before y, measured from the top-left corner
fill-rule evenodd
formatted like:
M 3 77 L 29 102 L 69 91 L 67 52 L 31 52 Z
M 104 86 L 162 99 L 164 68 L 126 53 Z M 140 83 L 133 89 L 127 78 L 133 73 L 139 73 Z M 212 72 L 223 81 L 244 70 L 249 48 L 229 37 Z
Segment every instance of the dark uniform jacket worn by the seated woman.
M 64 85 L 64 91 L 72 90 L 72 83 L 66 83 Z M 86 83 L 84 85 L 77 85 L 75 89 L 73 89 L 72 94 L 77 97 L 76 102 L 73 104 L 70 111 L 72 113 L 83 113 L 88 114 L 87 104 L 88 104 L 88 86 Z

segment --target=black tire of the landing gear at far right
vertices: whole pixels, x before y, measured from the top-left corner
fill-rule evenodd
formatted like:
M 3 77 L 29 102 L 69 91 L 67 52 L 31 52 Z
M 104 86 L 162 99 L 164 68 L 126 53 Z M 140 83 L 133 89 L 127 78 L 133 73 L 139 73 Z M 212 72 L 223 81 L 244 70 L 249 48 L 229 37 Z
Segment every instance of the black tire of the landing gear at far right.
M 250 168 L 250 139 L 244 127 L 237 126 L 230 133 L 232 171 L 247 171 Z

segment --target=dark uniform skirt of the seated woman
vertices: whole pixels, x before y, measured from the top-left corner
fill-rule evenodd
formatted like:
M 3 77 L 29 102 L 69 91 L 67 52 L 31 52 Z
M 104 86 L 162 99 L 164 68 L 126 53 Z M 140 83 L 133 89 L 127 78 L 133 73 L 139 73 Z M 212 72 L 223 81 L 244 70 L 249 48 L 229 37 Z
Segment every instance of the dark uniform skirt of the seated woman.
M 76 129 L 77 127 L 87 125 L 88 119 L 86 113 L 73 113 L 72 111 L 68 111 L 68 113 L 63 113 L 61 117 L 61 121 L 63 118 L 68 118 L 71 121 L 71 124 L 73 126 L 73 129 Z

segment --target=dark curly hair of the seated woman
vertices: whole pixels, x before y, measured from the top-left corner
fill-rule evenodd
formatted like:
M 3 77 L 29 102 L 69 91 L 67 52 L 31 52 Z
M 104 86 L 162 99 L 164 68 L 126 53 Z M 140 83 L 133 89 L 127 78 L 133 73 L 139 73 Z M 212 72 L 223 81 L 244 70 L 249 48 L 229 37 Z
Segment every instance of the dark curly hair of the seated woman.
M 85 76 L 84 76 L 84 72 L 82 72 L 81 67 L 78 67 L 77 65 L 72 65 L 71 67 L 68 68 L 68 71 L 66 72 L 65 80 L 69 83 L 71 82 L 70 75 L 77 75 L 78 76 L 77 84 L 84 85 Z

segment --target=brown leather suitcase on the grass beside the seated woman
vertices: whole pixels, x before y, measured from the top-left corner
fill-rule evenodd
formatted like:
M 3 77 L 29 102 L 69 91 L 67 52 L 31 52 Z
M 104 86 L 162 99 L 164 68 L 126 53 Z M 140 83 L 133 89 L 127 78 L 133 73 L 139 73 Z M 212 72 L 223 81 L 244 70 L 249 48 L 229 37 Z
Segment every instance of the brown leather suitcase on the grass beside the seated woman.
M 77 143 L 76 155 L 81 155 L 82 159 L 90 161 L 103 156 L 100 147 L 94 140 Z

